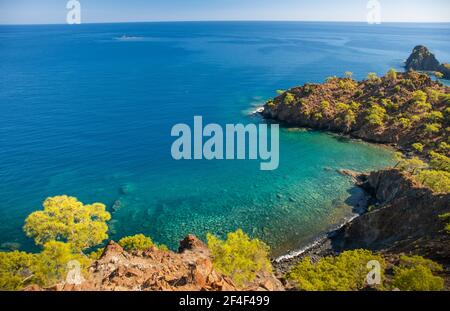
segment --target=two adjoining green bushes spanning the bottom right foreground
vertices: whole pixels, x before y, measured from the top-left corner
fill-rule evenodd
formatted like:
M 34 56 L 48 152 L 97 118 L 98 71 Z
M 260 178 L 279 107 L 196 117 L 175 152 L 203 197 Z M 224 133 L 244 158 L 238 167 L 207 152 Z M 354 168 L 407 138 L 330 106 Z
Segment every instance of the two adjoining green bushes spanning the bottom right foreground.
M 368 284 L 367 276 L 375 266 L 380 270 L 379 282 Z M 317 262 L 304 258 L 288 274 L 299 290 L 354 291 L 372 288 L 377 290 L 439 291 L 444 280 L 436 276 L 442 266 L 420 256 L 400 256 L 395 264 L 383 255 L 368 250 L 345 251 L 338 256 L 328 256 Z

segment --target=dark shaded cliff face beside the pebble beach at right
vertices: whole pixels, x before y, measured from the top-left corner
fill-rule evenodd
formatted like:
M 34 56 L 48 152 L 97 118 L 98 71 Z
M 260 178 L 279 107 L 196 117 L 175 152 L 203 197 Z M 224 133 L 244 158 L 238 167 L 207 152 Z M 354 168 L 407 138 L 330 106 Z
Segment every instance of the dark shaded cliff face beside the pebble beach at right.
M 450 194 L 433 193 L 396 169 L 373 172 L 363 180 L 379 207 L 347 224 L 335 248 L 415 254 L 450 264 L 450 235 L 439 219 L 450 212 Z

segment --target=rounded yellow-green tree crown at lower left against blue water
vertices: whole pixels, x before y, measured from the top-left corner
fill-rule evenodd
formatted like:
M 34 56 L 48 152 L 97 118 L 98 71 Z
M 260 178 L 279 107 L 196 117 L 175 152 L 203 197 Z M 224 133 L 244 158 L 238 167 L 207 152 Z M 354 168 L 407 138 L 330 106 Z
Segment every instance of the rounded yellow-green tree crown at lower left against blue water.
M 25 220 L 24 231 L 37 245 L 63 241 L 75 252 L 100 244 L 108 238 L 106 221 L 111 215 L 104 204 L 83 205 L 66 195 L 48 198 L 44 210 L 32 213 Z

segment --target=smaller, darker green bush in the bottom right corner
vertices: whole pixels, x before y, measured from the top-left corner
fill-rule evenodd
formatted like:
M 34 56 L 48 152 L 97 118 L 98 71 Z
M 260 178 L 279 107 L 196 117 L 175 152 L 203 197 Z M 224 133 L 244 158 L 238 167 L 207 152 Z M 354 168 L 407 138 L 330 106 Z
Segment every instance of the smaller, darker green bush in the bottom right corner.
M 404 291 L 439 291 L 444 280 L 433 272 L 442 271 L 437 263 L 419 256 L 400 257 L 400 265 L 394 267 L 392 285 Z

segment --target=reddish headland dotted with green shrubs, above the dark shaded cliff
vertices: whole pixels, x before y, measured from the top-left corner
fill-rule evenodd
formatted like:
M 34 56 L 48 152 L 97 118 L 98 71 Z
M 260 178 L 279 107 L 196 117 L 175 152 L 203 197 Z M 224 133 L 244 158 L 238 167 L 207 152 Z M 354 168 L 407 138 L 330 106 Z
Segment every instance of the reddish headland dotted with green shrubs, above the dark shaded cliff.
M 449 192 L 450 88 L 414 71 L 391 69 L 363 81 L 345 76 L 289 89 L 268 101 L 263 115 L 393 144 L 406 153 L 398 168 L 436 192 Z

